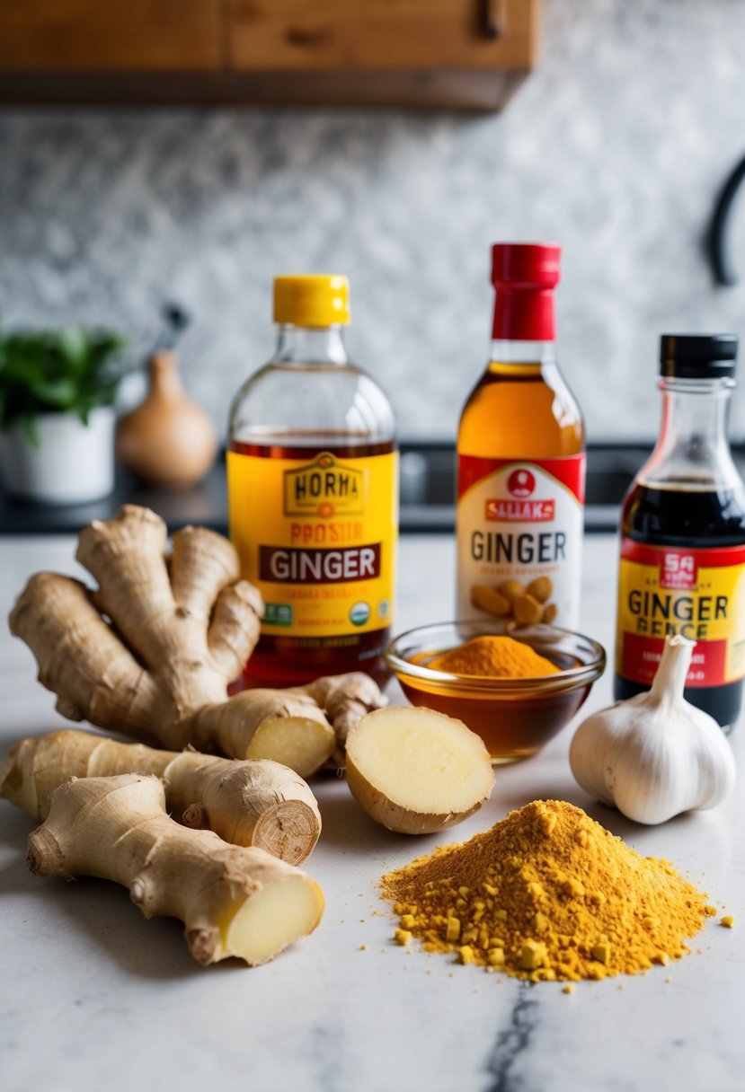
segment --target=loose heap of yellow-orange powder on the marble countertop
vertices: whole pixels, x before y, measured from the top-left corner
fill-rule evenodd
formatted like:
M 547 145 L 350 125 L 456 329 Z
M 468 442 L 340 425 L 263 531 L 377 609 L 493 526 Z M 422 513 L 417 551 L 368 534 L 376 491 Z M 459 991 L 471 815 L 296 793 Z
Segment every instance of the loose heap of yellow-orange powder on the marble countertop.
M 581 808 L 534 800 L 492 830 L 382 878 L 426 951 L 520 978 L 636 974 L 689 949 L 706 895 Z

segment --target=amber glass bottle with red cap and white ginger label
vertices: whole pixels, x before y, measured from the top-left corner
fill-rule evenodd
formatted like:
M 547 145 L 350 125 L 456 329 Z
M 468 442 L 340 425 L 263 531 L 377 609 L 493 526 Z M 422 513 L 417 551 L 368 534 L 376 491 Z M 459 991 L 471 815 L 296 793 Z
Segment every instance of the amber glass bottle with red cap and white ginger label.
M 559 373 L 560 248 L 493 247 L 492 357 L 458 431 L 458 617 L 577 627 L 584 426 Z

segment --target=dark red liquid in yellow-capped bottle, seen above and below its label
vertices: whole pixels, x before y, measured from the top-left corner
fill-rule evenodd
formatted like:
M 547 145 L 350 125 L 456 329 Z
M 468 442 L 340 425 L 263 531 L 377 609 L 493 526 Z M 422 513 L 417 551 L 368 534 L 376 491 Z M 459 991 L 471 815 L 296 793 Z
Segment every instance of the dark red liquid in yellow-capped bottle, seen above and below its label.
M 305 435 L 303 437 L 306 439 Z M 268 438 L 269 439 L 269 438 Z M 274 439 L 273 437 L 271 439 Z M 281 440 L 281 437 L 276 437 Z M 344 440 L 347 440 L 345 443 Z M 309 432 L 307 443 L 246 443 L 233 440 L 230 450 L 261 459 L 308 459 L 323 451 L 338 459 L 364 459 L 385 455 L 395 450 L 392 441 L 382 443 L 348 442 L 348 434 Z M 249 687 L 299 686 L 321 675 L 341 675 L 345 672 L 365 672 L 382 685 L 390 677 L 382 653 L 390 641 L 391 629 L 368 630 L 364 633 L 344 633 L 335 637 L 275 637 L 264 634 L 251 653 L 243 675 L 230 691 Z

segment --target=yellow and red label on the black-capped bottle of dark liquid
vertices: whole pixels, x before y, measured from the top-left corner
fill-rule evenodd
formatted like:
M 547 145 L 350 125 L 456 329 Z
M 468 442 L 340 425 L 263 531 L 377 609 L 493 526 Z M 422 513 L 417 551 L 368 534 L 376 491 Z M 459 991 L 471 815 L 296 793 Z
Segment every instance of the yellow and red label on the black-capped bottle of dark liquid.
M 675 633 L 696 641 L 686 686 L 745 677 L 745 545 L 622 541 L 616 674 L 651 686 L 665 636 Z

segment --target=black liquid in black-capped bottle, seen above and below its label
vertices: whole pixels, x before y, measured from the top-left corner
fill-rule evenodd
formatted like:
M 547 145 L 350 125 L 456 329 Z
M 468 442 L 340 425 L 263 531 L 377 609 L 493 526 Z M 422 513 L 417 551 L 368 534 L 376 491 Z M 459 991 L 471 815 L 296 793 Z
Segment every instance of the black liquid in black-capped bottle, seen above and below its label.
M 622 535 L 649 546 L 709 549 L 745 543 L 745 496 L 734 489 L 691 488 L 690 483 L 664 489 L 637 483 L 622 513 Z M 616 675 L 616 701 L 648 690 Z M 686 701 L 709 713 L 722 727 L 731 727 L 743 702 L 743 680 L 723 686 L 686 687 Z

